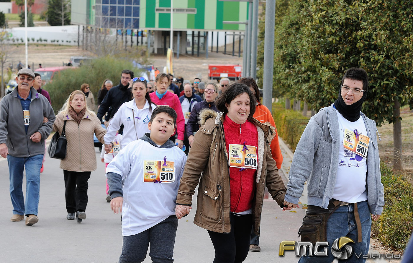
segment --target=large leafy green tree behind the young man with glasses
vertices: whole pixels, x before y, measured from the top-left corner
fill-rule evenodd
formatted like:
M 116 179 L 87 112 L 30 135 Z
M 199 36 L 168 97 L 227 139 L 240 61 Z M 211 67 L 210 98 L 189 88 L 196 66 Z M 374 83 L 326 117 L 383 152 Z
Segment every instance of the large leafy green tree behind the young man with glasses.
M 413 108 L 412 8 L 404 0 L 291 1 L 275 33 L 274 88 L 310 108 L 334 102 L 346 69 L 367 71 L 363 112 L 393 123 L 396 170 L 403 168 L 400 107 Z

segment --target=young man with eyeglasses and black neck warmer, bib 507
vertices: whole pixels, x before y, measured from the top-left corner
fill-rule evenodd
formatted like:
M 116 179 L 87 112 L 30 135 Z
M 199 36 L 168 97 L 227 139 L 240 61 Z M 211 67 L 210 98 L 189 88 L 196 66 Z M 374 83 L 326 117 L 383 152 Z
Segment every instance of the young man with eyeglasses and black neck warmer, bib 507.
M 384 206 L 376 123 L 361 112 L 367 92 L 366 71 L 348 69 L 338 99 L 311 117 L 301 136 L 284 201 L 290 202 L 289 207 L 297 206 L 308 179 L 301 240 L 328 241 L 331 251 L 337 239 L 349 237 L 354 241 L 349 244 L 354 251 L 351 262 L 366 261 L 356 255 L 368 253 L 371 219 L 377 220 Z M 316 231 L 311 234 L 310 228 Z M 320 234 L 324 229 L 325 234 Z M 326 257 L 302 256 L 299 262 L 330 263 L 334 259 L 329 253 Z

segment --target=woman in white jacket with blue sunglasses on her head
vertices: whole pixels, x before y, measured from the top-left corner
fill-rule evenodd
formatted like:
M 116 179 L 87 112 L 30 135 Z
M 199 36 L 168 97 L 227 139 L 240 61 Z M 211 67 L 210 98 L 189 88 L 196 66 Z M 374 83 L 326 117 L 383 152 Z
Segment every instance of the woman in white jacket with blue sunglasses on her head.
M 136 77 L 132 81 L 133 99 L 121 105 L 107 127 L 107 133 L 104 136 L 105 150 L 107 151 L 112 148 L 111 142 L 121 124 L 123 124 L 121 148 L 124 148 L 131 141 L 139 139 L 146 132 L 150 132 L 148 123 L 152 110 L 157 105 L 151 101 L 145 78 Z

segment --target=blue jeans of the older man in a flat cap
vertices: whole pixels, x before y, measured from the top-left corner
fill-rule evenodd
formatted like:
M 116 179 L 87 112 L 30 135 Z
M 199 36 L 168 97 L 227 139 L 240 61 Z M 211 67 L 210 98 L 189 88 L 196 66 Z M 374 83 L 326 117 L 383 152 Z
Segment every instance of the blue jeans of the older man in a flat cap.
M 14 215 L 37 215 L 40 192 L 40 168 L 43 154 L 30 157 L 7 155 L 10 175 L 10 198 Z M 26 206 L 24 206 L 23 169 L 26 167 Z

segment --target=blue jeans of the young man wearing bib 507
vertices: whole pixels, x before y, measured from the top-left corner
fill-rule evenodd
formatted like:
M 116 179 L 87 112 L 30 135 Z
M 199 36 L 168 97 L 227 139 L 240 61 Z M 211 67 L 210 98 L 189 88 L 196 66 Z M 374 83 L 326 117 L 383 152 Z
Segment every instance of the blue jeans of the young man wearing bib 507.
M 339 206 L 337 210 L 332 213 L 327 221 L 327 241 L 328 241 L 328 256 L 302 256 L 299 263 L 331 263 L 335 256 L 331 253 L 331 245 L 335 239 L 339 237 L 349 237 L 353 239 L 353 253 L 346 260 L 339 260 L 339 263 L 364 263 L 366 258 L 363 255 L 368 253 L 370 247 L 370 230 L 371 217 L 368 209 L 367 201 L 357 203 L 358 215 L 361 221 L 361 234 L 363 241 L 357 242 L 357 226 L 354 219 L 354 204 L 347 206 Z M 322 249 L 320 249 L 321 251 Z M 357 256 L 358 257 L 357 257 Z M 360 256 L 359 256 L 360 255 Z

